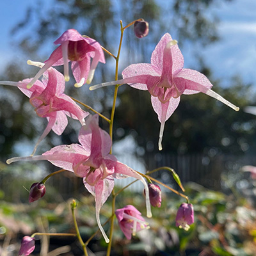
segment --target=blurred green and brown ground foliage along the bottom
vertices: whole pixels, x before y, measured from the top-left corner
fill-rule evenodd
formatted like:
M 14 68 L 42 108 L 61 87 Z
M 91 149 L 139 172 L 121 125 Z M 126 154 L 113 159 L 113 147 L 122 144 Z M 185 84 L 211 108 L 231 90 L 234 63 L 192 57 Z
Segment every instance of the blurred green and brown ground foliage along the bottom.
M 250 185 L 246 189 L 241 189 L 237 185 L 239 180 L 247 180 Z M 182 198 L 164 190 L 161 208 L 152 207 L 153 218 L 147 219 L 150 225 L 149 230 L 138 232 L 129 241 L 125 239 L 115 220 L 111 255 L 253 256 L 256 249 L 256 211 L 252 203 L 255 202 L 256 194 L 254 192 L 254 201 L 245 195 L 246 191 L 251 191 L 253 188 L 255 191 L 255 186 L 255 180 L 248 179 L 246 173 L 226 173 L 225 177 L 223 176 L 225 193 L 212 191 L 192 182 L 187 184 L 186 194 L 189 195 L 195 210 L 195 223 L 191 225 L 188 232 L 175 227 L 175 214 L 183 202 Z M 230 190 L 227 191 L 227 189 Z M 46 197 L 29 205 L 27 203 L 10 204 L 4 202 L 2 198 L 0 252 L 8 250 L 14 253 L 19 250 L 21 237 L 33 232 L 74 233 L 70 212 L 72 199 L 63 200 L 57 195 L 58 193 L 58 191 L 51 191 L 51 186 L 47 185 Z M 142 194 L 126 189 L 117 196 L 116 209 L 132 204 L 145 216 L 145 201 Z M 77 198 L 77 221 L 81 236 L 86 241 L 97 231 L 94 198 L 92 195 L 83 194 Z M 110 212 L 111 198 L 100 211 L 102 223 L 108 220 Z M 108 230 L 108 228 L 107 223 L 104 229 Z M 8 236 L 12 240 L 9 244 L 5 243 L 3 248 L 4 237 Z M 44 244 L 42 239 L 39 241 L 39 238 L 36 238 L 36 250 L 33 255 L 39 255 L 40 244 L 41 248 L 49 246 L 49 252 L 68 245 L 69 251 L 74 255 L 83 254 L 74 238 L 51 237 L 47 244 Z M 106 244 L 100 234 L 92 239 L 88 247 L 94 253 L 106 251 Z M 70 255 L 69 251 L 63 255 Z

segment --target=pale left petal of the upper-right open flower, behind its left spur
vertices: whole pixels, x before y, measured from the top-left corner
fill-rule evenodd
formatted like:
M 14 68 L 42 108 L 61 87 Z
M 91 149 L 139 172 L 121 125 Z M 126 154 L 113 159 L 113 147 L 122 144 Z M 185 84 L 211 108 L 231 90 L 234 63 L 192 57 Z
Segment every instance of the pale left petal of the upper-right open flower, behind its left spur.
M 138 82 L 141 80 L 140 76 L 142 76 L 144 78 L 144 81 L 142 79 L 141 83 L 132 83 L 132 84 L 129 83 L 129 85 L 139 90 L 147 90 L 146 83 L 147 83 L 148 77 L 161 76 L 161 70 L 157 70 L 156 68 L 154 69 L 152 65 L 150 65 L 149 63 L 132 64 L 123 70 L 122 76 L 124 79 L 127 77 L 138 77 Z

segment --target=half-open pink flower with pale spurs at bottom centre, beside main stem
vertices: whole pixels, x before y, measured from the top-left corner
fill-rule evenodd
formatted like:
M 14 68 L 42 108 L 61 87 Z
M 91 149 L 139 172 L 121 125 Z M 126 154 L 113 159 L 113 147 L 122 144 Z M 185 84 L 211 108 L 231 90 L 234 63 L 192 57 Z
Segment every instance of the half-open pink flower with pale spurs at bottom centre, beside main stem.
M 127 239 L 135 236 L 136 232 L 149 228 L 148 223 L 141 217 L 141 213 L 132 205 L 126 205 L 115 211 L 119 227 Z

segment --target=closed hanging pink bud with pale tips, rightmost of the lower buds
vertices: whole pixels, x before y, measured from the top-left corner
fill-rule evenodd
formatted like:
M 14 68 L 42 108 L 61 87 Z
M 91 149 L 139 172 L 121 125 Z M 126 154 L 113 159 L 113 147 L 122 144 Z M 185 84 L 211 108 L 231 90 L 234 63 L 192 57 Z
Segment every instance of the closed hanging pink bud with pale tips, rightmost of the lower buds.
M 189 230 L 189 225 L 194 223 L 194 209 L 192 204 L 183 203 L 180 205 L 175 218 L 176 227 Z

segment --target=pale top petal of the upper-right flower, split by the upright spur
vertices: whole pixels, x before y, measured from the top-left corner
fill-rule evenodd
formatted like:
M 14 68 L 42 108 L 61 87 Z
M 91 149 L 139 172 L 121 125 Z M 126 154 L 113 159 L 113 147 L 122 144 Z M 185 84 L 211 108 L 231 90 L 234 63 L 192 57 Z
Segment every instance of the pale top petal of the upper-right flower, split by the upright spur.
M 168 42 L 172 41 L 172 36 L 168 33 L 164 34 L 159 43 L 156 45 L 156 49 L 152 52 L 151 64 L 157 67 L 159 70 L 163 70 L 163 57 L 164 49 Z M 180 52 L 178 45 L 172 46 L 172 74 L 179 72 L 184 66 L 184 58 Z

